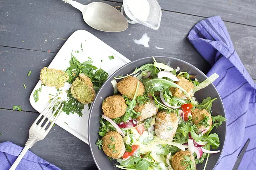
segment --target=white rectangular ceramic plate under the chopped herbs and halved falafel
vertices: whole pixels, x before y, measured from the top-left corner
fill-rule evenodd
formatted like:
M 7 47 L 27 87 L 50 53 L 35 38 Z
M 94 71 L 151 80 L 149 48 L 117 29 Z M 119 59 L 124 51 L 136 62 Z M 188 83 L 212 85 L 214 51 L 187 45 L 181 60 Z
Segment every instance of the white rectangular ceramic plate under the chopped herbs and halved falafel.
M 81 50 L 81 44 L 83 51 Z M 66 68 L 69 66 L 72 51 L 73 55 L 80 62 L 89 60 L 88 57 L 92 58 L 92 65 L 102 68 L 108 72 L 108 75 L 111 75 L 118 68 L 130 62 L 129 59 L 102 42 L 99 38 L 85 30 L 78 30 L 67 39 L 48 67 L 66 70 Z M 79 53 L 75 53 L 75 51 L 79 51 Z M 114 55 L 115 58 L 110 60 L 108 56 L 112 55 Z M 51 97 L 49 94 L 56 95 L 57 93 L 55 87 L 42 86 L 42 92 L 38 92 L 39 101 L 35 102 L 33 94 L 35 90 L 40 88 L 41 83 L 41 80 L 39 80 L 29 98 L 31 105 L 39 113 L 41 113 L 47 106 L 49 97 Z M 60 88 L 62 89 L 63 94 L 60 94 L 59 96 L 66 99 L 67 94 L 65 93 L 65 90 L 68 90 L 70 87 L 71 84 L 65 83 L 65 86 Z M 88 144 L 87 129 L 89 112 L 90 110 L 88 105 L 85 105 L 85 109 L 82 111 L 82 117 L 79 117 L 76 113 L 67 115 L 65 112 L 62 112 L 56 121 L 56 124 Z

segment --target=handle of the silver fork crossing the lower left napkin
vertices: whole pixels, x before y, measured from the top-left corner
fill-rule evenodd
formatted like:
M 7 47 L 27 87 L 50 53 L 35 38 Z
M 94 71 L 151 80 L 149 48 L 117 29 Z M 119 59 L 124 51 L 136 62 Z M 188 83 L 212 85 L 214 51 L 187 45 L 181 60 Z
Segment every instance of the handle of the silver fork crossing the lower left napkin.
M 28 149 L 31 148 L 34 145 L 34 143 L 37 142 L 37 140 L 38 140 L 38 137 L 35 136 L 34 134 L 29 136 L 28 141 L 27 141 L 25 147 L 23 148 L 23 150 L 21 151 L 20 155 L 18 156 L 18 158 L 16 159 L 16 161 L 13 163 L 12 167 L 9 170 L 15 170 L 16 169 L 16 167 L 18 166 L 18 164 L 20 163 L 22 158 L 27 153 Z

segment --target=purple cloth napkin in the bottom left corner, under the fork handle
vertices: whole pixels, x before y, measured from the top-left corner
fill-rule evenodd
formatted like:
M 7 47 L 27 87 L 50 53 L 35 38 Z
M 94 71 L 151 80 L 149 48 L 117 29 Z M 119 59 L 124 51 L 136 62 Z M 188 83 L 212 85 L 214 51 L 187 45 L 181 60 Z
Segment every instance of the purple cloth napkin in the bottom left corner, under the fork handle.
M 0 143 L 0 169 L 8 170 L 23 148 L 12 142 Z M 61 170 L 55 165 L 27 151 L 16 170 Z

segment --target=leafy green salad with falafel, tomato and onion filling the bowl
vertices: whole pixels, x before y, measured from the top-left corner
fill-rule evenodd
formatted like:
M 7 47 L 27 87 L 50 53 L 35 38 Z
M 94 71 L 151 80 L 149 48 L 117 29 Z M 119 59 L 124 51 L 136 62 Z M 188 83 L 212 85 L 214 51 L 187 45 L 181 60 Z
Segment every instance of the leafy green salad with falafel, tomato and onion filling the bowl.
M 132 74 L 114 77 L 117 81 L 121 79 L 119 82 L 111 82 L 114 94 L 107 100 L 111 104 L 104 104 L 99 135 L 109 135 L 111 131 L 119 133 L 126 151 L 119 158 L 111 156 L 110 148 L 103 151 L 117 159 L 119 164 L 115 166 L 120 169 L 195 169 L 196 164 L 205 159 L 208 161 L 210 154 L 220 152 L 210 150 L 210 147 L 216 149 L 220 145 L 218 134 L 211 131 L 226 120 L 220 115 L 211 116 L 211 106 L 216 98 L 207 97 L 198 103 L 193 97 L 218 75 L 213 74 L 199 83 L 196 75 L 179 72 L 179 68 L 153 60 L 153 64 L 136 68 Z M 143 87 L 139 87 L 140 83 Z M 138 95 L 138 91 L 143 93 Z M 123 99 L 116 95 L 122 95 L 126 110 L 120 112 Z M 114 102 L 109 101 L 112 98 Z M 108 118 L 110 110 L 112 113 L 119 110 L 118 116 L 112 114 L 114 118 Z M 99 139 L 96 145 L 101 149 L 109 142 Z

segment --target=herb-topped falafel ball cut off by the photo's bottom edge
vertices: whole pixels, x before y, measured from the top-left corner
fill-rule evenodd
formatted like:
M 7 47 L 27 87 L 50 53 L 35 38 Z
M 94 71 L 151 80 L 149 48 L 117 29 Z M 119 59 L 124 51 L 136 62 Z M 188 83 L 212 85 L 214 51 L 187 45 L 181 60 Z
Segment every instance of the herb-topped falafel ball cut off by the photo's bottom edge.
M 189 161 L 188 161 L 188 160 Z M 178 151 L 171 158 L 171 167 L 174 170 L 186 170 L 188 166 L 194 165 L 194 169 L 196 169 L 194 156 L 188 150 Z M 192 167 L 193 167 L 192 165 Z

